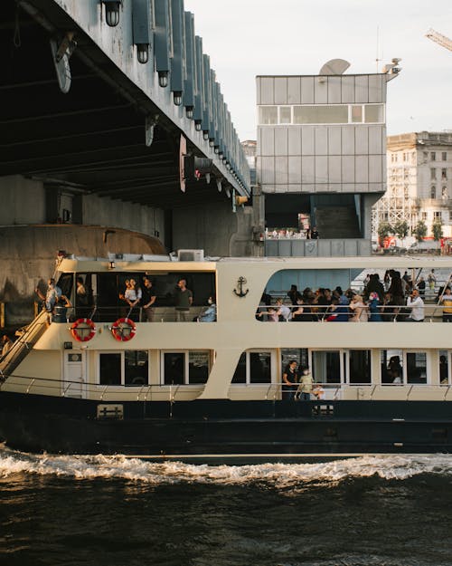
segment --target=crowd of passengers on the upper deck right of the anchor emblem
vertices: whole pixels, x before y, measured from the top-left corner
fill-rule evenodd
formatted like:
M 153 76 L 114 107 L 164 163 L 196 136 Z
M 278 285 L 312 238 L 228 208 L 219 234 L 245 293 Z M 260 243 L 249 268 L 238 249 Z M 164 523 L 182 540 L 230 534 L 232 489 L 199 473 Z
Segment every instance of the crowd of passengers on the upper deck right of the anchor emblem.
M 422 322 L 425 318 L 424 298 L 428 285 L 434 294 L 435 270 L 414 283 L 408 271 L 387 270 L 383 281 L 378 273 L 370 273 L 363 281 L 363 292 L 340 286 L 331 290 L 306 287 L 303 292 L 291 285 L 286 297 L 275 303 L 267 293 L 262 295 L 256 318 L 259 321 L 327 321 L 327 322 Z M 436 302 L 441 307 L 443 321 L 452 322 L 452 290 L 449 285 L 438 288 Z

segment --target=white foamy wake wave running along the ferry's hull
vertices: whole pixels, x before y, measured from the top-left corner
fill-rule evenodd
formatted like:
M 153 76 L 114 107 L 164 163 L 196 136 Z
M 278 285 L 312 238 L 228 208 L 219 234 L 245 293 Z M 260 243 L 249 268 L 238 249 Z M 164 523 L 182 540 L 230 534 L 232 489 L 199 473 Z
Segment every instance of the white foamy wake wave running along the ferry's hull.
M 147 484 L 250 484 L 291 486 L 379 476 L 452 475 L 452 455 L 379 455 L 309 464 L 192 465 L 152 463 L 126 456 L 46 456 L 0 449 L 0 477 L 54 475 L 76 480 L 126 479 Z

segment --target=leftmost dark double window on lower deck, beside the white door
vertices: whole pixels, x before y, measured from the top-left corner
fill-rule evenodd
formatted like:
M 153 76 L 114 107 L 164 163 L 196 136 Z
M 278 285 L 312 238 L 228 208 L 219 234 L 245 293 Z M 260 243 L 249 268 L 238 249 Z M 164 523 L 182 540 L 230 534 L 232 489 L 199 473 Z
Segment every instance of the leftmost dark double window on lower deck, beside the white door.
M 141 386 L 148 383 L 147 351 L 99 353 L 99 384 Z

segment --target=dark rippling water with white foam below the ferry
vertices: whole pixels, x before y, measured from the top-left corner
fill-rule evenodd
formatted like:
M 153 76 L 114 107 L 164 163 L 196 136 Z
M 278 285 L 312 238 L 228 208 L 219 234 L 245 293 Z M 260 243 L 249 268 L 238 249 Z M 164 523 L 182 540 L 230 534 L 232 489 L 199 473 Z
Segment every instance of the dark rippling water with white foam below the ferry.
M 452 564 L 452 456 L 152 464 L 0 450 L 2 566 Z

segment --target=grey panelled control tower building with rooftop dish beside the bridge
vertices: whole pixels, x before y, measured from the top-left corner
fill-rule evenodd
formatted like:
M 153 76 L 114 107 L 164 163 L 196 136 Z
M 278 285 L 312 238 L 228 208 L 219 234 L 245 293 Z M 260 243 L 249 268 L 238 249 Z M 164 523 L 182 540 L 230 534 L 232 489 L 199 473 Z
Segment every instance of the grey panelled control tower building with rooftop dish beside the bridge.
M 394 60 L 394 62 L 399 60 Z M 372 206 L 386 190 L 386 83 L 397 63 L 376 74 L 258 76 L 257 182 L 267 255 L 370 254 Z M 306 245 L 306 228 L 320 239 Z M 282 238 L 286 239 L 285 237 Z

